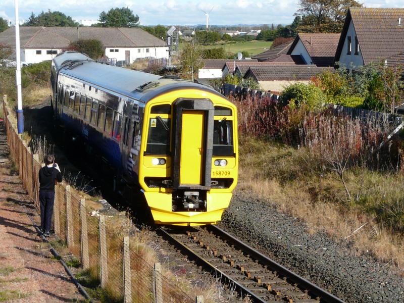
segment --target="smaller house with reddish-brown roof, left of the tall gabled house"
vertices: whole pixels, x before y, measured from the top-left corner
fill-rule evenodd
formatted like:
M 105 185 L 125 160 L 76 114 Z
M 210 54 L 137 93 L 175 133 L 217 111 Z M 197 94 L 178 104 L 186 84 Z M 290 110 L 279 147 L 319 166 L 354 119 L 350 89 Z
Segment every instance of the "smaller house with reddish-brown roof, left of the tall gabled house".
M 287 55 L 300 56 L 306 64 L 333 66 L 339 37 L 340 34 L 299 33 L 290 45 Z

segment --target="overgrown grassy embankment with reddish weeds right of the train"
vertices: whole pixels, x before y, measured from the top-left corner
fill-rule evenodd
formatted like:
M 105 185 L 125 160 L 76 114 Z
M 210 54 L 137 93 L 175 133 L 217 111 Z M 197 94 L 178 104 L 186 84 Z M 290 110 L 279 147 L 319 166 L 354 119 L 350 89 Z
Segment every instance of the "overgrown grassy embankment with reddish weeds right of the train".
M 355 239 L 361 250 L 403 273 L 400 137 L 380 147 L 393 125 L 327 109 L 280 108 L 269 98 L 233 102 L 239 113 L 238 190 L 303 219 L 313 232 Z

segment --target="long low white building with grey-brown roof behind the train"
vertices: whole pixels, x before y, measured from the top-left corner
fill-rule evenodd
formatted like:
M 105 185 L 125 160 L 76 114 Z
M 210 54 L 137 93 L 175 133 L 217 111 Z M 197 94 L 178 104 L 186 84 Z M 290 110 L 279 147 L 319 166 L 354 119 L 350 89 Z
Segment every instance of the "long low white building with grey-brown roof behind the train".
M 52 60 L 78 39 L 97 39 L 105 56 L 132 63 L 137 58 L 168 58 L 165 42 L 140 28 L 114 27 L 20 27 L 21 61 Z M 15 49 L 15 29 L 0 33 L 0 44 Z

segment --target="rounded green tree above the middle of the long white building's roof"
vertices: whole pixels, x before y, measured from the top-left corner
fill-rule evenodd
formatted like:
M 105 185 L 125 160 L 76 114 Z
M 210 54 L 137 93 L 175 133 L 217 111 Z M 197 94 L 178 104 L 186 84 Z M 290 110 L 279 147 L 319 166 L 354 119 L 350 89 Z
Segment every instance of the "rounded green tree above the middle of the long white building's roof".
M 139 16 L 133 15 L 129 8 L 115 8 L 99 14 L 98 21 L 102 27 L 136 27 Z

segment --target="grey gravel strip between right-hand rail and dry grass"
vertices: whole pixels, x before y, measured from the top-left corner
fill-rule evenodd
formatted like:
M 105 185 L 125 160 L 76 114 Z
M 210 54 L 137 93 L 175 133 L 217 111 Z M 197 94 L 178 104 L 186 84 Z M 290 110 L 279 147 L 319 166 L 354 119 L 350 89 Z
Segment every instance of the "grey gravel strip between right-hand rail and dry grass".
M 300 220 L 235 194 L 221 227 L 346 302 L 404 302 L 403 278 L 350 242 L 310 234 Z

